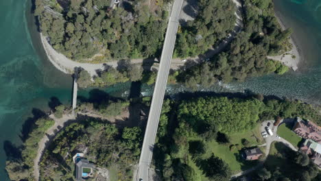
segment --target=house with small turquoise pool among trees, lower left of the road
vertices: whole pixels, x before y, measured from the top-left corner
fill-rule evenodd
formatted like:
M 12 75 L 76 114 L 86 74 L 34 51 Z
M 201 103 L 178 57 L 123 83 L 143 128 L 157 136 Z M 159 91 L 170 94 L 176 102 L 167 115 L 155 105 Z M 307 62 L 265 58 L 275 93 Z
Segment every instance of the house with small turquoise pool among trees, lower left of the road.
M 73 162 L 75 162 L 75 178 L 77 181 L 82 181 L 85 178 L 93 177 L 94 165 L 86 158 L 83 157 L 84 154 L 75 154 L 73 156 Z

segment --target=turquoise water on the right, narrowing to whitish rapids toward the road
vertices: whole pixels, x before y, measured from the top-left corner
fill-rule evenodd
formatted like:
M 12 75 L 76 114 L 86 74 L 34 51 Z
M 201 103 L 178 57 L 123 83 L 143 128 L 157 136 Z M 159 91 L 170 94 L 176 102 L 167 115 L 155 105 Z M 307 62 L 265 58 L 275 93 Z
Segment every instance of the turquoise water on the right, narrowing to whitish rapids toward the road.
M 298 3 L 300 2 L 300 3 Z M 286 27 L 294 31 L 302 61 L 297 72 L 285 75 L 252 77 L 245 82 L 220 84 L 210 88 L 215 92 L 246 92 L 301 99 L 311 104 L 321 103 L 321 1 L 275 0 L 276 13 Z M 172 91 L 176 91 L 173 89 Z

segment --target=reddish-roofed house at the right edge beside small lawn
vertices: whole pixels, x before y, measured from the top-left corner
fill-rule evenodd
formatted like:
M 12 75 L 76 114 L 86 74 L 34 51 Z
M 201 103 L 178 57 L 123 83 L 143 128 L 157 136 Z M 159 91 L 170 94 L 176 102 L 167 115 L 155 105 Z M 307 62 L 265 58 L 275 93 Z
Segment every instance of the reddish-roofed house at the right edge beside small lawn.
M 321 128 L 311 121 L 303 121 L 298 117 L 292 130 L 302 138 L 321 143 Z

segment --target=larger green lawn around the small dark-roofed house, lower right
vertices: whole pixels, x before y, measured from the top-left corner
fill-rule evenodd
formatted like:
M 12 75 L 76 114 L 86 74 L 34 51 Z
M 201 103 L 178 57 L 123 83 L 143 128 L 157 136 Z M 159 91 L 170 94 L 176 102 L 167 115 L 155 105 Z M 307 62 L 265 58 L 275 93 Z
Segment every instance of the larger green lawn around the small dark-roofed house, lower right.
M 263 139 L 260 134 L 260 124 L 257 125 L 256 128 L 250 130 L 248 132 L 241 132 L 230 134 L 230 145 L 235 145 L 235 149 L 230 150 L 230 145 L 222 145 L 217 143 L 216 141 L 211 141 L 209 143 L 209 149 L 213 154 L 222 160 L 224 160 L 229 166 L 233 173 L 236 173 L 241 170 L 249 169 L 257 164 L 257 161 L 247 161 L 241 158 L 241 152 L 239 149 L 244 147 L 241 143 L 243 138 L 246 138 L 250 142 L 251 145 L 261 145 Z M 263 151 L 263 148 L 261 148 Z

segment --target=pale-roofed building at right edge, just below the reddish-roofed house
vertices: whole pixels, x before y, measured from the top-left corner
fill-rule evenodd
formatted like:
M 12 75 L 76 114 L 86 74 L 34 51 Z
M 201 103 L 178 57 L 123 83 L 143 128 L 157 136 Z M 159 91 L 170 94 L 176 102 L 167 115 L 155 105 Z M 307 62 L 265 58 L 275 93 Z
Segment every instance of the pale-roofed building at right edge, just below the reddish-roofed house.
M 307 139 L 300 147 L 300 151 L 311 156 L 311 160 L 318 165 L 318 167 L 321 167 L 321 144 Z

